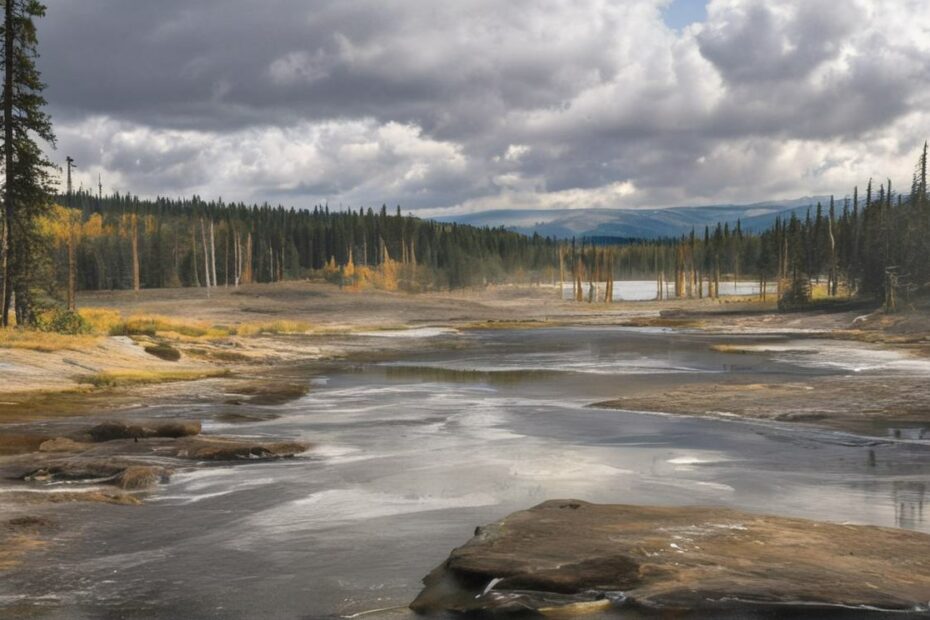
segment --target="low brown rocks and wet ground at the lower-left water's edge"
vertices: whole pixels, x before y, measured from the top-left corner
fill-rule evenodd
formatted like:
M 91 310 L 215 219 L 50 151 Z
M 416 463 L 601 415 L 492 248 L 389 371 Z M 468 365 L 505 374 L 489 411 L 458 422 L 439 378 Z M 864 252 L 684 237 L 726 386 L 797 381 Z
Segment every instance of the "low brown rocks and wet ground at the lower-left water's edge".
M 70 502 L 139 504 L 178 469 L 290 458 L 309 445 L 201 436 L 189 420 L 114 420 L 74 426 L 66 434 L 36 430 L 0 436 L 4 503 L 0 570 L 45 546 Z

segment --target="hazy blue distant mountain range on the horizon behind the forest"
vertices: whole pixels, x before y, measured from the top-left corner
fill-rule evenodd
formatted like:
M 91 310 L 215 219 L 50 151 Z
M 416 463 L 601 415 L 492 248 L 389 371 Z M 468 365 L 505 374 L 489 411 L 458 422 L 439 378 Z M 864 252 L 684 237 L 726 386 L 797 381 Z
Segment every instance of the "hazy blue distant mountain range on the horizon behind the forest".
M 817 202 L 826 205 L 829 196 L 809 196 L 793 200 L 773 200 L 746 205 L 708 205 L 665 209 L 532 209 L 492 210 L 433 218 L 473 226 L 503 226 L 510 230 L 544 237 L 616 237 L 656 239 L 679 236 L 718 222 L 732 227 L 737 220 L 743 230 L 760 231 L 779 215 L 796 212 L 803 216 Z

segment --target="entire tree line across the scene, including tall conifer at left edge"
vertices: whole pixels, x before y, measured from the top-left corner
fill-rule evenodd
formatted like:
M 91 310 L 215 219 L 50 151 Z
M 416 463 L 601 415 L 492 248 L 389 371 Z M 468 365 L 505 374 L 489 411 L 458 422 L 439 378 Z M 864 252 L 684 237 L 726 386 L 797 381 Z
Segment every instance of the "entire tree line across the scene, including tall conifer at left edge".
M 841 200 L 778 218 L 756 233 L 720 223 L 680 238 L 571 239 L 438 223 L 380 209 L 142 199 L 67 188 L 40 142 L 55 136 L 35 59 L 38 0 L 5 0 L 0 217 L 0 326 L 73 309 L 78 290 L 217 286 L 322 275 L 343 286 L 423 291 L 504 281 L 566 282 L 572 299 L 611 301 L 617 279 L 654 279 L 656 298 L 717 297 L 721 279 L 758 279 L 783 307 L 862 297 L 894 309 L 930 283 L 927 146 L 911 185 L 870 180 Z

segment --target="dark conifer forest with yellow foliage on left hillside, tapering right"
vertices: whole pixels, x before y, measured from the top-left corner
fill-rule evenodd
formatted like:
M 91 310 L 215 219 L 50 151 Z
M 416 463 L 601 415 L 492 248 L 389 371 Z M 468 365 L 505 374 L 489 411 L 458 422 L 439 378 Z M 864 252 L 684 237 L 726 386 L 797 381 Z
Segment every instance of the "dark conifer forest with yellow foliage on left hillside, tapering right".
M 57 202 L 73 208 L 50 223 L 56 279 L 67 281 L 70 263 L 77 289 L 274 282 L 326 270 L 386 288 L 457 288 L 538 271 L 557 254 L 548 239 L 403 216 L 399 207 L 296 210 L 83 191 Z

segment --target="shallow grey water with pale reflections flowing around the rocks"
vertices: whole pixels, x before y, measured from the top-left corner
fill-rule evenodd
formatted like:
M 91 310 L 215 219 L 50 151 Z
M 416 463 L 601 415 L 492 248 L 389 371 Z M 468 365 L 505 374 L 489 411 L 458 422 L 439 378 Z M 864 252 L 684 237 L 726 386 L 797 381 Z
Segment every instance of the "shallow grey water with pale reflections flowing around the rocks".
M 419 580 L 476 525 L 557 497 L 930 532 L 920 429 L 907 429 L 917 441 L 883 442 L 586 407 L 683 382 L 930 378 L 919 360 L 834 341 L 662 329 L 416 337 L 413 352 L 387 362 L 295 371 L 312 384 L 308 396 L 254 407 L 280 417 L 205 424 L 313 442 L 305 457 L 180 472 L 141 507 L 71 507 L 86 526 L 0 582 L 0 615 L 335 618 L 400 607 L 364 617 L 406 618 Z M 720 342 L 757 350 L 709 349 Z M 152 411 L 209 420 L 228 409 Z

